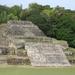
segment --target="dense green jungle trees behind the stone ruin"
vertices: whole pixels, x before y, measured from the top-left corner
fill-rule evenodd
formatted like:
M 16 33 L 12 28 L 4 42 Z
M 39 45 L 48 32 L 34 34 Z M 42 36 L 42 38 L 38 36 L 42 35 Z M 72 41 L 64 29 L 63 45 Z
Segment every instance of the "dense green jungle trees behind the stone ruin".
M 0 5 L 0 24 L 9 20 L 28 20 L 36 24 L 48 37 L 66 40 L 75 48 L 75 11 L 64 7 L 52 8 L 49 5 L 29 4 L 7 7 Z

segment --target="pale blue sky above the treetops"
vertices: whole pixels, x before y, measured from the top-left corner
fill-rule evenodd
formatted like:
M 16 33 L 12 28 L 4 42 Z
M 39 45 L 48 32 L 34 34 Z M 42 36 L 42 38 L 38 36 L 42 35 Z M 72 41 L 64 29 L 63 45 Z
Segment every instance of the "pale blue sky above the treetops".
M 50 5 L 51 7 L 59 5 L 66 9 L 75 10 L 75 0 L 0 0 L 1 5 L 13 6 L 22 4 L 23 8 L 27 8 L 30 3 Z

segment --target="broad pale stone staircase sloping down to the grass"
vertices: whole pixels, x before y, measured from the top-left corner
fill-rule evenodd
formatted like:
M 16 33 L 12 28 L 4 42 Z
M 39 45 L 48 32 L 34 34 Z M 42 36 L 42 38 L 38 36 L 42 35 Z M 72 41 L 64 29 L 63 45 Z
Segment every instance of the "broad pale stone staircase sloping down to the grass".
M 70 66 L 60 45 L 28 42 L 25 48 L 32 66 Z

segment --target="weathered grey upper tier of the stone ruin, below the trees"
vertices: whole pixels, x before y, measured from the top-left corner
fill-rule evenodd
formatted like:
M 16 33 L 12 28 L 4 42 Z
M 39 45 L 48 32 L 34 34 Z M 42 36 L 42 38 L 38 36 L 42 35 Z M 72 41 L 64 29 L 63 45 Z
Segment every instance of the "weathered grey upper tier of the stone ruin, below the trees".
M 43 32 L 36 25 L 32 24 L 32 22 L 13 21 L 9 22 L 8 26 L 7 35 L 25 37 L 44 36 Z

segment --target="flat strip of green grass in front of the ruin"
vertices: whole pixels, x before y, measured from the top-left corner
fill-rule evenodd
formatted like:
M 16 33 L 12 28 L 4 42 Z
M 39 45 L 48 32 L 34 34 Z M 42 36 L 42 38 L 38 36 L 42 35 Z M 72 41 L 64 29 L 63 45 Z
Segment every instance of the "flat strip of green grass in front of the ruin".
M 0 68 L 0 75 L 75 75 L 75 67 L 72 68 L 5 67 Z

